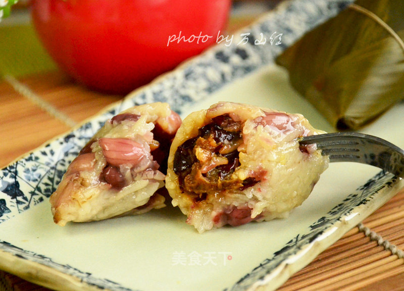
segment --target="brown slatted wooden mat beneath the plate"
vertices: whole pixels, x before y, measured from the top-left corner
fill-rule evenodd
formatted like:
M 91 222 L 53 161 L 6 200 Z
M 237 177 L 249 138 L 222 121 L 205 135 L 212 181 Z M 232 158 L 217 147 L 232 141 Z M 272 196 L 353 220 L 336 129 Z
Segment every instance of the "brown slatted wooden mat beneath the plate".
M 232 18 L 229 31 L 251 19 Z M 59 70 L 0 81 L 0 166 L 70 130 L 123 96 L 97 93 Z M 350 230 L 279 291 L 404 289 L 404 191 Z M 399 252 L 398 252 L 399 253 Z M 0 271 L 0 291 L 47 290 Z

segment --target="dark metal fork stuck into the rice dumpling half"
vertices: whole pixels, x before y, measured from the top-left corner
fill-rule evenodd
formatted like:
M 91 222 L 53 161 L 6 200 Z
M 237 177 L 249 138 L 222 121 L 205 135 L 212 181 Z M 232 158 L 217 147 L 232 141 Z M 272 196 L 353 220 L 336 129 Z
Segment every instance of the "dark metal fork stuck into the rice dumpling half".
M 392 143 L 356 132 L 327 133 L 301 137 L 301 146 L 316 144 L 330 162 L 358 162 L 379 167 L 404 178 L 404 150 Z

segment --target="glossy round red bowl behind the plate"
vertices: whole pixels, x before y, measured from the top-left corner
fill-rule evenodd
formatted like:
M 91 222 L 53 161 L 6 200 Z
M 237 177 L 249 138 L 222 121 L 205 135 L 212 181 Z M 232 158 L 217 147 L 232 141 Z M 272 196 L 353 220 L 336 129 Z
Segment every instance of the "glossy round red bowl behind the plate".
M 126 94 L 216 43 L 231 0 L 33 0 L 48 53 L 78 82 Z

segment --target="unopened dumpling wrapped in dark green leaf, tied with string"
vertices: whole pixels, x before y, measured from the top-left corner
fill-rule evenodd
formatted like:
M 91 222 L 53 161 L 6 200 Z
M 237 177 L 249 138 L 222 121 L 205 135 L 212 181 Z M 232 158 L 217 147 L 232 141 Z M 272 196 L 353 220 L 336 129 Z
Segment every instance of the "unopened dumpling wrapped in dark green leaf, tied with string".
M 357 1 L 276 62 L 333 126 L 359 129 L 404 97 L 403 14 L 401 1 Z

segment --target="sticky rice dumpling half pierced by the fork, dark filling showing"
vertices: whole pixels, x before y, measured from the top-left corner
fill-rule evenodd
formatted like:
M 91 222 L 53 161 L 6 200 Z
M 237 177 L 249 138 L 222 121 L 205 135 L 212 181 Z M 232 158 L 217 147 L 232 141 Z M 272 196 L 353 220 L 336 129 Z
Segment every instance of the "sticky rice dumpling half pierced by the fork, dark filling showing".
M 173 140 L 166 188 L 199 232 L 287 217 L 328 158 L 297 139 L 324 133 L 301 114 L 220 102 L 186 117 Z

